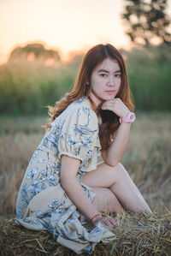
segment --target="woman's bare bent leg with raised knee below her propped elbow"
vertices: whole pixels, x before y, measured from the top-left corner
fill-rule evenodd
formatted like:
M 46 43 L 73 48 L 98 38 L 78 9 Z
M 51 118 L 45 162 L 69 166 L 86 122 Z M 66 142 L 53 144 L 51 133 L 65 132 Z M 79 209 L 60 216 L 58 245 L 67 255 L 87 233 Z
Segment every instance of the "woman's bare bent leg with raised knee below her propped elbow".
M 98 164 L 83 176 L 81 182 L 90 187 L 109 188 L 121 205 L 130 211 L 150 211 L 139 189 L 133 183 L 122 164 L 111 167 L 108 164 Z M 115 204 L 115 202 L 114 202 Z

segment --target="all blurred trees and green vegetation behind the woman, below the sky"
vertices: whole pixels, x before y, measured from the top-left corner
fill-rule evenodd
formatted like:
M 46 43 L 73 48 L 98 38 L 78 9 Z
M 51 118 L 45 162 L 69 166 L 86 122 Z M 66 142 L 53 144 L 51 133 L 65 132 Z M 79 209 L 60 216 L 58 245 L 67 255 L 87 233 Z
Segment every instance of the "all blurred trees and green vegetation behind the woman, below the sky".
M 121 49 L 136 110 L 171 110 L 171 35 L 167 0 L 125 0 L 122 19 L 136 47 Z M 156 39 L 158 45 L 153 45 Z M 138 47 L 137 45 L 143 45 Z M 0 114 L 47 115 L 71 91 L 84 54 L 62 63 L 59 51 L 28 44 L 0 66 Z

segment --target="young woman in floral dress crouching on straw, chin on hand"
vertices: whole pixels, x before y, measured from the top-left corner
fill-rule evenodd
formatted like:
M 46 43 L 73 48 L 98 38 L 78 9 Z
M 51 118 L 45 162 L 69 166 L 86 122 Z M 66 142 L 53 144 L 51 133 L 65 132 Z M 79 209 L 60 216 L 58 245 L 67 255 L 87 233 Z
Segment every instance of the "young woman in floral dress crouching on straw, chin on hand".
M 94 46 L 85 54 L 73 91 L 50 107 L 52 122 L 21 184 L 17 221 L 50 231 L 76 253 L 91 253 L 98 241 L 115 236 L 109 228 L 117 223 L 100 212 L 151 212 L 120 163 L 135 119 L 131 111 L 121 53 L 113 45 Z M 91 231 L 85 228 L 90 222 Z

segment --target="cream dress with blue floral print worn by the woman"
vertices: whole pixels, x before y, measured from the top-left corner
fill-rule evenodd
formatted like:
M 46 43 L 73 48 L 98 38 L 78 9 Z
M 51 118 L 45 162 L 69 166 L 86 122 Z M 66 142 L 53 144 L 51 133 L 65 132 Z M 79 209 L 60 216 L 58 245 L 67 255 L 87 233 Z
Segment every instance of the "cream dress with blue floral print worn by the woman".
M 91 200 L 95 193 L 81 177 L 96 169 L 100 149 L 97 115 L 89 99 L 82 97 L 51 123 L 33 153 L 18 193 L 15 220 L 27 229 L 49 231 L 75 253 L 91 253 L 97 242 L 114 238 L 114 233 L 101 224 L 91 230 L 85 228 L 88 220 L 60 183 L 62 154 L 80 159 L 77 179 Z

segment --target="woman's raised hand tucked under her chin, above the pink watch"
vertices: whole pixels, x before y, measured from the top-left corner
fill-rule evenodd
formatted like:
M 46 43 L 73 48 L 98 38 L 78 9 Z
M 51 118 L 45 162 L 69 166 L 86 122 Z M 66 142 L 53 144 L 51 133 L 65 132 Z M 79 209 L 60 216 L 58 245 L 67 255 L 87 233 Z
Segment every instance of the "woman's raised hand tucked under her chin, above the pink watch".
M 120 116 L 120 117 L 125 117 L 127 116 L 128 113 L 130 113 L 130 110 L 128 110 L 126 104 L 123 103 L 121 98 L 114 98 L 114 99 L 110 99 L 103 102 L 101 109 L 111 110 L 117 116 Z

